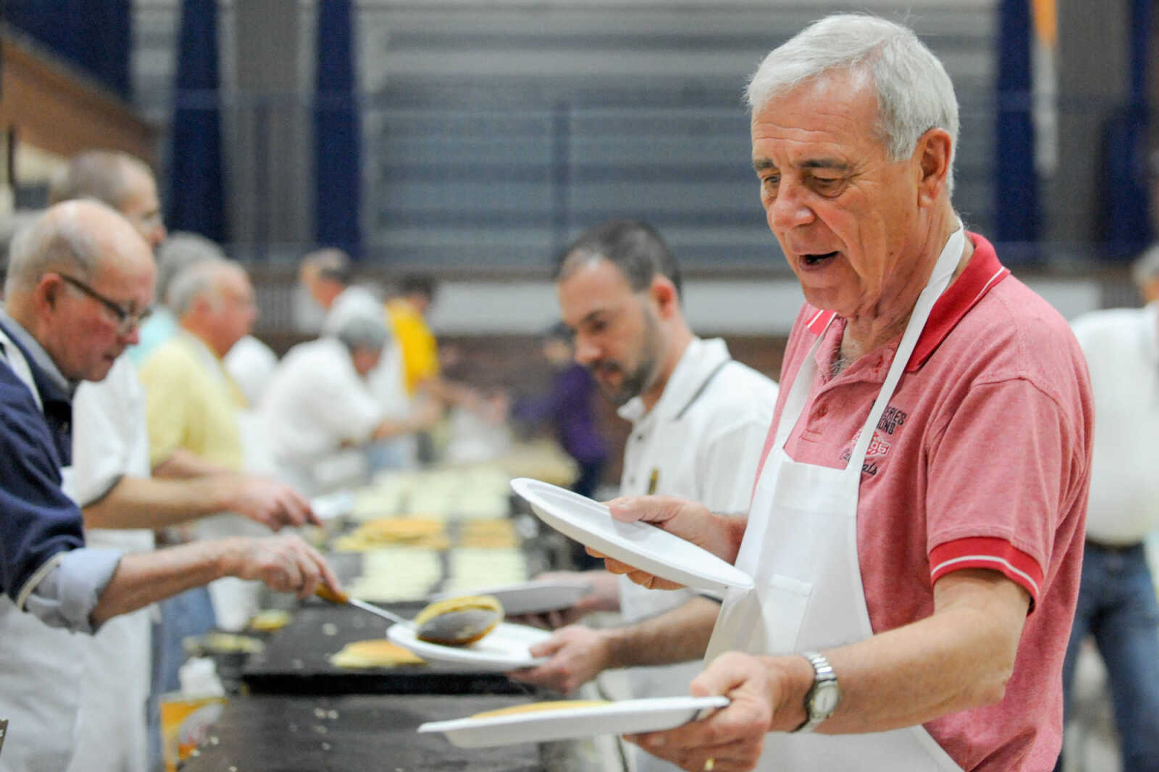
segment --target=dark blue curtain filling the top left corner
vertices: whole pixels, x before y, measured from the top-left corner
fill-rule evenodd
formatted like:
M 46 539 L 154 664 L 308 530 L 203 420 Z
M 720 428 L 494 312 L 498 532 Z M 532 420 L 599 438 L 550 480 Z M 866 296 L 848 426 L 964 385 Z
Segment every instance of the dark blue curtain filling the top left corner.
M 130 99 L 132 0 L 7 0 L 5 20 Z

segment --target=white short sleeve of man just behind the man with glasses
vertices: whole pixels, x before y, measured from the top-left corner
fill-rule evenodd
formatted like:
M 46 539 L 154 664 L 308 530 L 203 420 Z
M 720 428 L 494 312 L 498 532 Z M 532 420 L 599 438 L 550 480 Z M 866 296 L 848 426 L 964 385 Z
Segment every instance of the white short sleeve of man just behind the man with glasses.
M 127 356 L 104 380 L 83 383 L 73 399 L 73 475 L 76 501 L 86 507 L 123 476 L 150 474 L 145 394 Z

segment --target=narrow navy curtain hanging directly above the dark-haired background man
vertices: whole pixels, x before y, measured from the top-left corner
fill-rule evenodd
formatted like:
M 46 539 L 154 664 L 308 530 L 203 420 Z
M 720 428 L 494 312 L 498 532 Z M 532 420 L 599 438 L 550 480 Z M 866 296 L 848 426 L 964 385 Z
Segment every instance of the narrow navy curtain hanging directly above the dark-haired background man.
M 355 94 L 350 0 L 318 3 L 314 95 L 314 235 L 320 245 L 362 252 L 360 124 Z

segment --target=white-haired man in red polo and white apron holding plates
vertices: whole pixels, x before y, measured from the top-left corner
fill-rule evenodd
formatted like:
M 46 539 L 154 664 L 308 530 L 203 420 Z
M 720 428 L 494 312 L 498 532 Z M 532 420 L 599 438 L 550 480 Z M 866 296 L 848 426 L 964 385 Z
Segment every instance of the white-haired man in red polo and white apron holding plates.
M 1083 352 L 954 211 L 957 101 L 911 30 L 830 16 L 748 95 L 806 305 L 749 511 L 611 505 L 755 581 L 691 686 L 731 704 L 633 740 L 698 772 L 1049 770 L 1091 479 Z

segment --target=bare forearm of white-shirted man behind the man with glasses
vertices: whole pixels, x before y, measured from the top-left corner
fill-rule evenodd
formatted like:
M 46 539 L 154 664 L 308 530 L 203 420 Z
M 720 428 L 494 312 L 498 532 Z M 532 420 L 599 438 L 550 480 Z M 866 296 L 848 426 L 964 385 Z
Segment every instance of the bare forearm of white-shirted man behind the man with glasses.
M 194 480 L 124 476 L 99 501 L 85 507 L 90 529 L 160 529 L 226 511 L 231 475 Z

